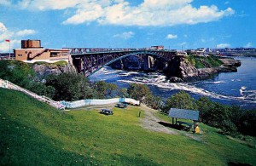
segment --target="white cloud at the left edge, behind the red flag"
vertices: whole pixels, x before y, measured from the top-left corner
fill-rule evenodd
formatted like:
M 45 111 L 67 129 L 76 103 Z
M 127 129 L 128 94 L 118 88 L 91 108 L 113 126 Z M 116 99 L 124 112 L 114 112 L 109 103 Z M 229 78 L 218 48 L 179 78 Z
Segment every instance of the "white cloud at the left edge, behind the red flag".
M 33 35 L 36 31 L 34 30 L 20 30 L 20 31 L 9 31 L 9 29 L 0 22 L 0 52 L 9 52 L 9 43 L 5 42 L 6 39 L 10 40 L 10 49 L 20 48 L 20 37 L 26 37 Z

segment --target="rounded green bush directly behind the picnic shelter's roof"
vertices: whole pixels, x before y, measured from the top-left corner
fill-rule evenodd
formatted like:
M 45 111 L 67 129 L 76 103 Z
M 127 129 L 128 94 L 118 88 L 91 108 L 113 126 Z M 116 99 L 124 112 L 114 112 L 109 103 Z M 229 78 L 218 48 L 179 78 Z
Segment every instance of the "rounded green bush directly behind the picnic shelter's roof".
M 171 98 L 166 100 L 166 106 L 164 112 L 169 112 L 170 108 L 190 109 L 194 110 L 197 108 L 195 99 L 184 91 L 180 91 L 177 94 L 172 95 Z

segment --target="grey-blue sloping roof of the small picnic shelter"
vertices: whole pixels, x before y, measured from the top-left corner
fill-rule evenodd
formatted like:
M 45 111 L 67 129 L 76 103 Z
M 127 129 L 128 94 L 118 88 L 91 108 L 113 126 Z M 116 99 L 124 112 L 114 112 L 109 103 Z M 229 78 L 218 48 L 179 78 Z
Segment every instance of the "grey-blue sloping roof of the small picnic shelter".
M 171 108 L 169 117 L 199 121 L 199 111 Z

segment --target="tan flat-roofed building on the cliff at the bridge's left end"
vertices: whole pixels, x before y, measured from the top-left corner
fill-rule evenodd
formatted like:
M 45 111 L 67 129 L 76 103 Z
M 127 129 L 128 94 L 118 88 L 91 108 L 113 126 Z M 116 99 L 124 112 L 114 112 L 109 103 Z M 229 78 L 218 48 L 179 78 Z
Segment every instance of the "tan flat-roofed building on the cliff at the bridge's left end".
M 21 40 L 21 49 L 14 49 L 15 60 L 28 63 L 45 61 L 54 63 L 60 60 L 68 62 L 69 49 L 44 49 L 40 40 Z

